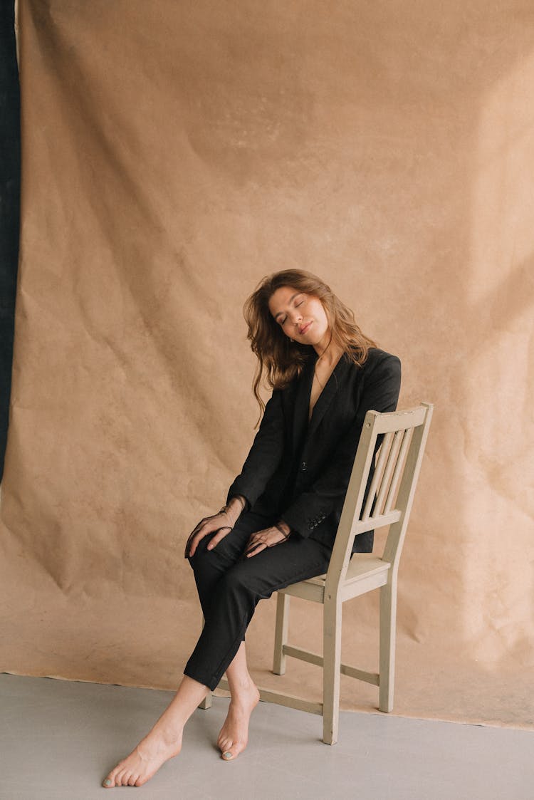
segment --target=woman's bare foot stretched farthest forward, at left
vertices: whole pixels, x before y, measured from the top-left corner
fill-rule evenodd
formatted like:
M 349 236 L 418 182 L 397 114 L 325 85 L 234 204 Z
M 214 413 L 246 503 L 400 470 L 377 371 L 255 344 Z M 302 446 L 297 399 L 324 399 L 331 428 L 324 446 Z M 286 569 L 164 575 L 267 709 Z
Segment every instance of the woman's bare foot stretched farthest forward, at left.
M 142 786 L 159 770 L 161 764 L 177 755 L 181 750 L 179 734 L 157 729 L 141 739 L 130 755 L 111 770 L 102 783 L 106 789 L 114 786 Z

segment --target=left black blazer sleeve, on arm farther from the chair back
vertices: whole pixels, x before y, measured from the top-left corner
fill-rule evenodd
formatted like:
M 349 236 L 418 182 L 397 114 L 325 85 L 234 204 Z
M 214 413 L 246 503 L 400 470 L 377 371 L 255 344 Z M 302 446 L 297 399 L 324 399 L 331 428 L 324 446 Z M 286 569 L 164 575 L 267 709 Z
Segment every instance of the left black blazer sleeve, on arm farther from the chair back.
M 277 470 L 284 451 L 281 394 L 282 390 L 273 390 L 241 474 L 237 475 L 230 486 L 226 502 L 233 495 L 241 494 L 249 502 L 249 506 L 253 506 L 265 490 L 269 478 Z

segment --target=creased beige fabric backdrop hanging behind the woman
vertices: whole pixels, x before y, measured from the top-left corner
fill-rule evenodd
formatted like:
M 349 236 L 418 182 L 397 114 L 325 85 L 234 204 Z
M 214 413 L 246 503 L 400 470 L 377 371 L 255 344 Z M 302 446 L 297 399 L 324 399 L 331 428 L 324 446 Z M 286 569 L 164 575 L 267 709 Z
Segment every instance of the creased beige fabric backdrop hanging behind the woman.
M 257 414 L 241 304 L 302 266 L 401 357 L 401 406 L 436 404 L 395 711 L 534 724 L 532 7 L 21 0 L 19 25 L 0 669 L 176 686 L 201 620 L 185 537 Z M 249 634 L 270 685 L 273 604 Z M 376 620 L 374 597 L 345 610 L 364 667 Z M 276 680 L 319 691 L 297 662 Z

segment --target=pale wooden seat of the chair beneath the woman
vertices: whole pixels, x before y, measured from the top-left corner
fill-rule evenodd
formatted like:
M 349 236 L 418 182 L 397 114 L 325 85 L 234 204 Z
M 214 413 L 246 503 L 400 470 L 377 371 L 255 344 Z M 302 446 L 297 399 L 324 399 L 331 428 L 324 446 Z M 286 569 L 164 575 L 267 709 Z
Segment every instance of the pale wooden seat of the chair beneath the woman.
M 349 562 L 347 576 L 343 585 L 343 599 L 357 597 L 388 582 L 391 564 L 373 553 L 356 553 Z M 314 602 L 324 602 L 326 575 L 317 575 L 305 581 L 293 583 L 279 590 L 281 594 L 305 598 Z

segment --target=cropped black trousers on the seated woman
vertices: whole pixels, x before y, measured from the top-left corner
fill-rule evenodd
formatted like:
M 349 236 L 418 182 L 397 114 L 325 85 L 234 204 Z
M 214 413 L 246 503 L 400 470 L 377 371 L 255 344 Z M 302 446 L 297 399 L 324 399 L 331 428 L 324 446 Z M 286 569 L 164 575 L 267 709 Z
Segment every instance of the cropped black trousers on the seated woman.
M 299 534 L 245 558 L 250 534 L 273 524 L 249 511 L 213 550 L 206 536 L 189 558 L 193 567 L 205 626 L 184 674 L 213 690 L 245 638 L 257 602 L 290 583 L 326 572 L 332 550 Z

